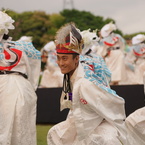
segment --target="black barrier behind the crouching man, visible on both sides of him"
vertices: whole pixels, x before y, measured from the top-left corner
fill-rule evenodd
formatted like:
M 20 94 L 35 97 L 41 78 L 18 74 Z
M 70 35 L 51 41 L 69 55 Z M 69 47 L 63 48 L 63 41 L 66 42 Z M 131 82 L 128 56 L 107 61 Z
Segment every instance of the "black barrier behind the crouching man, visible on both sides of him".
M 117 94 L 125 99 L 126 115 L 144 107 L 143 85 L 111 86 Z M 68 109 L 60 111 L 62 88 L 38 88 L 37 123 L 59 123 L 66 119 Z

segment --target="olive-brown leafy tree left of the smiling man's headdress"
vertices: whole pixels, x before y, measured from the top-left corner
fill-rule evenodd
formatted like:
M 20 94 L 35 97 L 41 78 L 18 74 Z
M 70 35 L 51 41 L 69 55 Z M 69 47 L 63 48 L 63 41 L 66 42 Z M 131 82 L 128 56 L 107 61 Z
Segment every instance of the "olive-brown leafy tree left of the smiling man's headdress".
M 34 46 L 40 50 L 46 43 L 54 40 L 56 31 L 64 24 L 60 14 L 46 14 L 43 11 L 7 12 L 15 20 L 15 30 L 9 33 L 13 40 L 21 36 L 32 36 Z

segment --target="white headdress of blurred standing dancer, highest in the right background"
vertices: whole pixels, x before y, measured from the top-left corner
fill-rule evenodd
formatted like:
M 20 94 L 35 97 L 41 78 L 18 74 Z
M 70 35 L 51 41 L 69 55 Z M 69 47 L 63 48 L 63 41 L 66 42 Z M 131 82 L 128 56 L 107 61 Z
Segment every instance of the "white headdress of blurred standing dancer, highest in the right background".
M 116 26 L 115 24 L 110 22 L 109 24 L 103 26 L 103 28 L 101 29 L 101 35 L 102 37 L 107 37 L 114 30 L 116 30 Z

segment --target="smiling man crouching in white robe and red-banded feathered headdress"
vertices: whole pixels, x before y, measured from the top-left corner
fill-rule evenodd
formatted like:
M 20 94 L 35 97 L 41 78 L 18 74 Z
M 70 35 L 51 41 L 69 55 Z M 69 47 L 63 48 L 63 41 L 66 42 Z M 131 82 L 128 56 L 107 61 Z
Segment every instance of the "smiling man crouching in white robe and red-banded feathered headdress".
M 87 76 L 79 63 L 82 49 L 82 37 L 73 23 L 60 28 L 56 51 L 57 63 L 64 74 L 61 110 L 70 108 L 70 112 L 65 121 L 49 130 L 47 142 L 49 145 L 126 144 L 124 100 L 101 89 Z

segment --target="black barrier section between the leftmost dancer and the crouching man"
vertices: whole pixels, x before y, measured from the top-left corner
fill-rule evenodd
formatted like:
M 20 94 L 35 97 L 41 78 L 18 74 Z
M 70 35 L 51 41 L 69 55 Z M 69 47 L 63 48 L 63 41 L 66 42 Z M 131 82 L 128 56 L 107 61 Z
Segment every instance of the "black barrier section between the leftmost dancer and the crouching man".
M 62 88 L 38 88 L 37 123 L 59 123 L 66 119 L 69 109 L 60 111 Z

